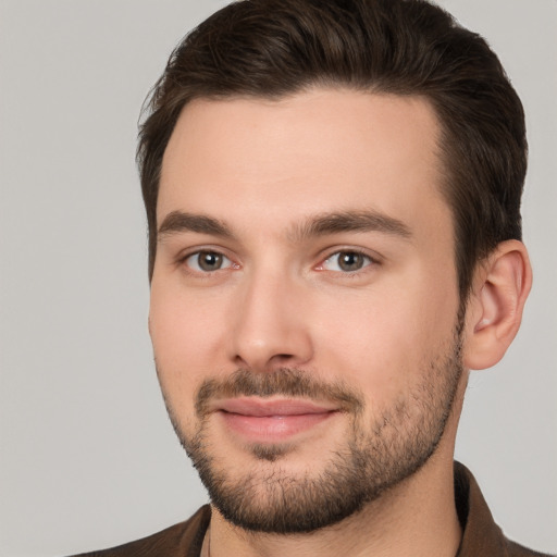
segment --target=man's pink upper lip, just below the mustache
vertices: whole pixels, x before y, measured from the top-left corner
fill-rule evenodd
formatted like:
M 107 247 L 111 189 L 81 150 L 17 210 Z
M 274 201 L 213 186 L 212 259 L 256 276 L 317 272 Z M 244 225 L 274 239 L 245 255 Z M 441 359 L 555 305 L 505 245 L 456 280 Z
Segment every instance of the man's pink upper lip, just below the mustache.
M 263 399 L 255 397 L 227 398 L 219 400 L 215 410 L 242 416 L 304 416 L 308 413 L 326 413 L 338 410 L 337 407 L 318 404 L 299 398 Z

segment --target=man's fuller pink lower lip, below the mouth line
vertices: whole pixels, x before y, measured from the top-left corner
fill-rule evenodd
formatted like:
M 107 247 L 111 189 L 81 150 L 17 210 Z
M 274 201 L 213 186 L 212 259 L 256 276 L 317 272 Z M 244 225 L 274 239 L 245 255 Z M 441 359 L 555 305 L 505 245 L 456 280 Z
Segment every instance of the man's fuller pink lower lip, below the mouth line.
M 326 421 L 337 412 L 287 416 L 245 416 L 224 411 L 219 413 L 232 431 L 239 433 L 248 441 L 274 443 L 309 430 Z

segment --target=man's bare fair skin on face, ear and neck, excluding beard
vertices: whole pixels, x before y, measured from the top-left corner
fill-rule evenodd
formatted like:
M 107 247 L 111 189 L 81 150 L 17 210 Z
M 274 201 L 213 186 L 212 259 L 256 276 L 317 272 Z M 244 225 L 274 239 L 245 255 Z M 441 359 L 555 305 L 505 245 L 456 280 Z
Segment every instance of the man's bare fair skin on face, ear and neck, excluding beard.
M 185 436 L 199 428 L 201 383 L 239 368 L 263 374 L 289 367 L 342 381 L 361 394 L 363 424 L 410 399 L 428 363 L 454 346 L 459 308 L 438 136 L 433 110 L 412 97 L 315 89 L 278 101 L 197 100 L 184 109 L 164 154 L 159 225 L 187 212 L 230 233 L 188 224 L 159 237 L 150 332 L 161 387 Z M 381 214 L 404 234 L 300 234 L 339 211 Z M 223 267 L 205 272 L 199 250 L 222 253 Z M 343 250 L 361 251 L 361 269 L 343 270 Z M 467 369 L 503 356 L 520 322 L 529 269 L 525 250 L 512 242 L 479 267 L 463 330 Z M 213 509 L 211 555 L 455 555 L 461 532 L 453 451 L 467 376 L 433 456 L 362 511 L 310 535 L 278 535 L 246 532 Z M 219 414 L 206 431 L 231 479 L 264 476 L 277 466 L 298 478 L 318 474 L 343 448 L 348 421 L 336 412 L 289 435 L 278 463 L 258 460 Z M 286 442 L 271 435 L 269 443 Z

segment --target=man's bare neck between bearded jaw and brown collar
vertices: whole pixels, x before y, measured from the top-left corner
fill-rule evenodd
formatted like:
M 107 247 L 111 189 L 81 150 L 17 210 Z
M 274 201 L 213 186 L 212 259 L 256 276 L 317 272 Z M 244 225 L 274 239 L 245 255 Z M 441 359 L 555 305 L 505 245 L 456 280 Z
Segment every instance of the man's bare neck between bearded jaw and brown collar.
M 461 529 L 455 507 L 451 451 L 448 459 L 443 453 L 437 450 L 416 474 L 358 513 L 309 534 L 247 532 L 213 508 L 210 556 L 454 557 Z

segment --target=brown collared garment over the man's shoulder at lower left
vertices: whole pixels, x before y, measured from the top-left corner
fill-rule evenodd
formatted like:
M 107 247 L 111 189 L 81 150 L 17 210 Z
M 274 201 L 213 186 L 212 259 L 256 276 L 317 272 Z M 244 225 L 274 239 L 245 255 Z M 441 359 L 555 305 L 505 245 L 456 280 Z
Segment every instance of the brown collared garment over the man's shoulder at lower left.
M 174 524 L 156 534 L 110 549 L 90 552 L 73 557 L 186 557 L 199 555 L 211 519 L 209 505 L 201 507 L 189 520 Z

